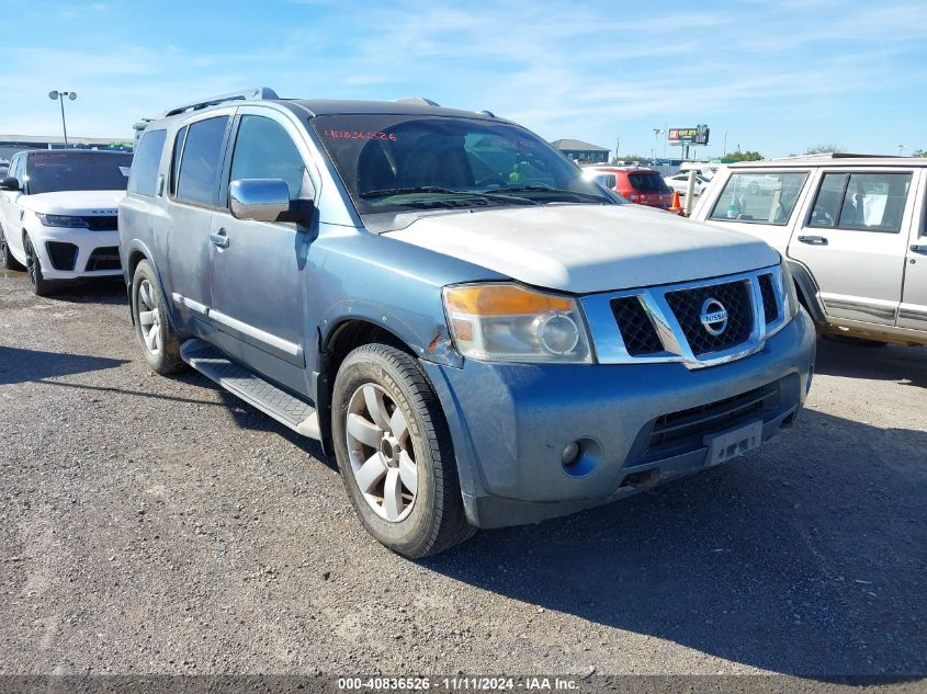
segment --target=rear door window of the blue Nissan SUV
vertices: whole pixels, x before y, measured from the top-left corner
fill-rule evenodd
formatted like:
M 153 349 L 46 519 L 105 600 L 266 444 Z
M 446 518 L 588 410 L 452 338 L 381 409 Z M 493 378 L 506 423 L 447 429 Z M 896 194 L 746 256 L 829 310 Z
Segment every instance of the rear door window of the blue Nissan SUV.
M 218 168 L 228 116 L 197 121 L 189 126 L 183 159 L 177 180 L 177 198 L 214 205 L 218 190 Z

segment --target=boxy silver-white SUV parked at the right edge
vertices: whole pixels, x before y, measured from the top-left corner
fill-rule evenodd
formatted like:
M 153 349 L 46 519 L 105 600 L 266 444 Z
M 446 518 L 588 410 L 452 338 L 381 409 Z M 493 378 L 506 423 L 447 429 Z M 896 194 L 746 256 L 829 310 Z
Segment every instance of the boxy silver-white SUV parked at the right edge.
M 821 332 L 927 344 L 927 159 L 792 158 L 722 169 L 692 217 L 788 260 Z

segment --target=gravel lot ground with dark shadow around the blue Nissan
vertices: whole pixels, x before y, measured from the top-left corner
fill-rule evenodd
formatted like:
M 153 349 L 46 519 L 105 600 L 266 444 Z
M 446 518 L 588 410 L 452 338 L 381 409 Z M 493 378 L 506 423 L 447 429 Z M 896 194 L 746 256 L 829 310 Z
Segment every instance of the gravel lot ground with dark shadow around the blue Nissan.
M 772 445 L 415 564 L 123 297 L 0 275 L 0 673 L 927 673 L 927 350 L 822 342 Z

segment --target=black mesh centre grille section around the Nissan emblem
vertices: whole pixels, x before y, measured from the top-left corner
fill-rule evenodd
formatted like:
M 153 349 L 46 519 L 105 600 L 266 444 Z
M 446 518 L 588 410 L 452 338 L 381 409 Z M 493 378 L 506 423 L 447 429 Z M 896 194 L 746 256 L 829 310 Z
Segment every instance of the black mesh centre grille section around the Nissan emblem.
M 727 326 L 719 335 L 711 334 L 701 321 L 702 306 L 708 299 L 720 302 L 727 311 Z M 696 356 L 746 342 L 753 331 L 754 311 L 746 280 L 668 292 L 666 300 Z

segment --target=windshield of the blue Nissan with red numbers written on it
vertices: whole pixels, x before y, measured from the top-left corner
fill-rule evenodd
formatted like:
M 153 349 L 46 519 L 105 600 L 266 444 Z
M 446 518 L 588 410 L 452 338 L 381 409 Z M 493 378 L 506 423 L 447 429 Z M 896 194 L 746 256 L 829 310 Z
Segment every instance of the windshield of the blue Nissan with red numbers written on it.
M 395 114 L 326 115 L 312 123 L 361 214 L 619 202 L 515 125 Z

